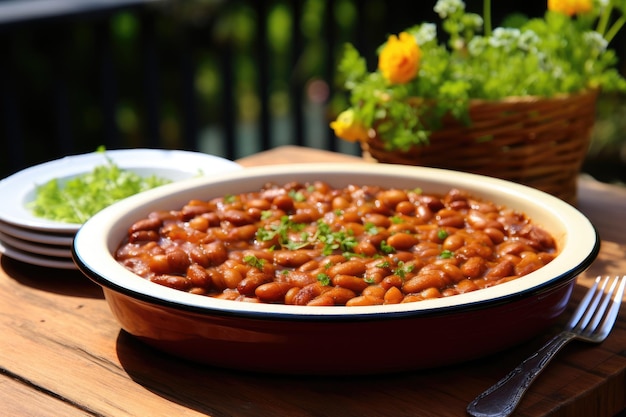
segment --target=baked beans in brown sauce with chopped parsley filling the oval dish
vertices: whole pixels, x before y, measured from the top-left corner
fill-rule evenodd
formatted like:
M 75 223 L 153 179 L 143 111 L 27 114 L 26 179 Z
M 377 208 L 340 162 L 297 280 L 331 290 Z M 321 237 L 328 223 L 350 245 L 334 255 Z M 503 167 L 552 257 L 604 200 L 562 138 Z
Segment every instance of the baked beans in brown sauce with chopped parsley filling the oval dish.
M 152 212 L 115 252 L 141 277 L 199 296 L 318 306 L 463 294 L 557 254 L 555 239 L 524 214 L 464 190 L 320 181 Z

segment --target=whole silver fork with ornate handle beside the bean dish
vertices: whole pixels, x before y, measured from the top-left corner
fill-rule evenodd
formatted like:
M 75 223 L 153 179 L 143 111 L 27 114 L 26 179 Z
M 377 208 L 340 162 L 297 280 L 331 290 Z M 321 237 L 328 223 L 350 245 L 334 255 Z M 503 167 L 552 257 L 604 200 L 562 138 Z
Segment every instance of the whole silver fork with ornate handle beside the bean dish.
M 597 277 L 565 329 L 507 376 L 476 397 L 467 406 L 467 412 L 474 417 L 511 415 L 530 384 L 568 342 L 574 339 L 591 343 L 604 341 L 615 324 L 624 295 L 626 275 L 621 278 L 616 276 L 609 290 L 605 292 L 609 281 L 608 276 L 604 280 Z

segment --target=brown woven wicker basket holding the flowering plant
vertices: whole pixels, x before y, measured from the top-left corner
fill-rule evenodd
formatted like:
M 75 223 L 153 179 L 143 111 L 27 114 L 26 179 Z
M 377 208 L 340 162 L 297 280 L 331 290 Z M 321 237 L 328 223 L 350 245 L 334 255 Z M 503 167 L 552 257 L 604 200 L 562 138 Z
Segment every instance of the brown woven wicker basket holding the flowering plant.
M 595 120 L 597 91 L 556 98 L 474 100 L 472 124 L 444 121 L 430 144 L 389 151 L 374 137 L 366 159 L 447 168 L 529 185 L 571 204 Z

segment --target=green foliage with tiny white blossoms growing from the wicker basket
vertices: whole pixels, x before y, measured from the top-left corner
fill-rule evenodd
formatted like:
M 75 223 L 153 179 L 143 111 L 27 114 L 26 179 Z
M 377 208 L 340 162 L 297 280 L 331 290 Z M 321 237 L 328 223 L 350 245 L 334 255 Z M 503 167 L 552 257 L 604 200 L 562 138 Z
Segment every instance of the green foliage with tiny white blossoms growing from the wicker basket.
M 616 0 L 612 3 L 617 6 Z M 624 12 L 625 6 L 619 7 Z M 600 32 L 593 26 L 610 21 L 603 16 L 615 15 L 610 5 L 575 17 L 553 11 L 535 19 L 515 14 L 506 21 L 511 26 L 493 31 L 483 28 L 480 16 L 466 13 L 461 0 L 439 0 L 435 11 L 449 41 L 439 41 L 432 23 L 406 29 L 421 50 L 412 81 L 391 84 L 379 71 L 368 72 L 351 44 L 338 66 L 355 118 L 375 128 L 390 149 L 428 144 L 444 115 L 471 123 L 471 99 L 552 97 L 585 89 L 626 92 L 615 52 L 608 49 L 608 39 L 624 24 L 624 16 Z M 483 29 L 485 35 L 480 35 Z

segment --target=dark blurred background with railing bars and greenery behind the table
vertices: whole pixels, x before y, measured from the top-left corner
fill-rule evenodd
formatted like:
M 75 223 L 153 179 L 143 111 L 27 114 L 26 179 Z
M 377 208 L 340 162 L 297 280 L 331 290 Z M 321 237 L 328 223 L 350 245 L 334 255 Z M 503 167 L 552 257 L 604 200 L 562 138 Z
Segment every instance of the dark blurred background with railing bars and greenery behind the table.
M 18 103 L 5 103 L 0 132 L 7 133 L 3 148 L 24 158 L 16 164 L 3 153 L 0 177 L 102 144 L 232 159 L 283 144 L 359 154 L 328 128 L 346 100 L 335 79 L 341 48 L 354 43 L 374 66 L 375 49 L 389 33 L 437 20 L 434 3 L 407 9 L 385 0 L 163 0 L 5 24 L 0 88 L 13 89 Z M 482 0 L 466 3 L 480 13 Z M 496 25 L 513 11 L 545 10 L 545 0 L 494 3 Z M 623 35 L 612 44 L 622 69 Z M 114 102 L 113 128 L 102 110 L 107 100 Z M 9 107 L 17 110 L 7 113 Z M 625 182 L 626 98 L 603 95 L 597 110 L 585 171 Z

